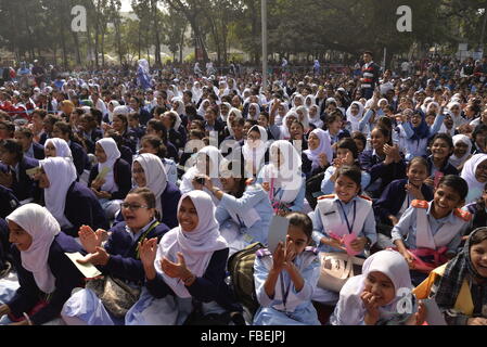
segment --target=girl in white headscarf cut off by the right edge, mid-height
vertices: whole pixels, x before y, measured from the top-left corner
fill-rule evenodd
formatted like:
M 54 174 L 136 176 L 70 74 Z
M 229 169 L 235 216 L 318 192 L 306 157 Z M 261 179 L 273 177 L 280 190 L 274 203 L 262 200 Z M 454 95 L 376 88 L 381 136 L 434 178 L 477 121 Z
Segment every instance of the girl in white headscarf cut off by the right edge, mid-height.
M 465 204 L 474 203 L 482 196 L 487 183 L 487 154 L 475 154 L 463 166 L 462 178 L 469 184 Z

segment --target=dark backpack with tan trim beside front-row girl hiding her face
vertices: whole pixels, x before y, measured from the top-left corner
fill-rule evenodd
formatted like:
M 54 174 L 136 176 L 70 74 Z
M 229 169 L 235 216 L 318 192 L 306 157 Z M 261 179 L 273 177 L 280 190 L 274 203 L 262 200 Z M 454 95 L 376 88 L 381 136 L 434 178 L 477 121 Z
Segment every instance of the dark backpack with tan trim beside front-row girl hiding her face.
M 266 248 L 261 243 L 254 243 L 233 254 L 228 260 L 228 270 L 236 300 L 241 303 L 252 316 L 260 307 L 257 301 L 254 283 L 254 261 L 256 253 Z

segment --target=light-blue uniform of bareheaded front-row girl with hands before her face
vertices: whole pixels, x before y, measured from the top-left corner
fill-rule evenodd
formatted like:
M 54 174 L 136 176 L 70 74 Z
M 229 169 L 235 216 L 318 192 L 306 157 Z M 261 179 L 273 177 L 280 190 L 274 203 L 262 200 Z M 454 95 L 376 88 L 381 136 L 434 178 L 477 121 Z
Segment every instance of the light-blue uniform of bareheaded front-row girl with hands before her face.
M 320 325 L 317 310 L 311 297 L 320 277 L 318 250 L 307 247 L 294 260 L 305 281 L 304 287 L 297 292 L 287 271 L 279 274 L 274 296 L 266 294 L 265 283 L 272 269 L 272 254 L 268 249 L 257 252 L 254 264 L 254 282 L 259 310 L 254 317 L 253 325 Z

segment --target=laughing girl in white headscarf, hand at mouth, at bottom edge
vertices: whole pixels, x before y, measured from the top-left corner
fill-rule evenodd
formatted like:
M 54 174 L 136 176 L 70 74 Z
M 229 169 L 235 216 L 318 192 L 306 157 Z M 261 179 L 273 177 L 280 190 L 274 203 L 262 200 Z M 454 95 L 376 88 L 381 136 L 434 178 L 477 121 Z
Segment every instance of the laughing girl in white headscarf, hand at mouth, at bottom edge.
M 381 250 L 366 260 L 361 275 L 344 285 L 330 321 L 333 325 L 421 324 L 419 314 L 413 314 L 411 290 L 405 258 L 395 250 Z M 403 300 L 411 303 L 411 312 L 400 314 Z

